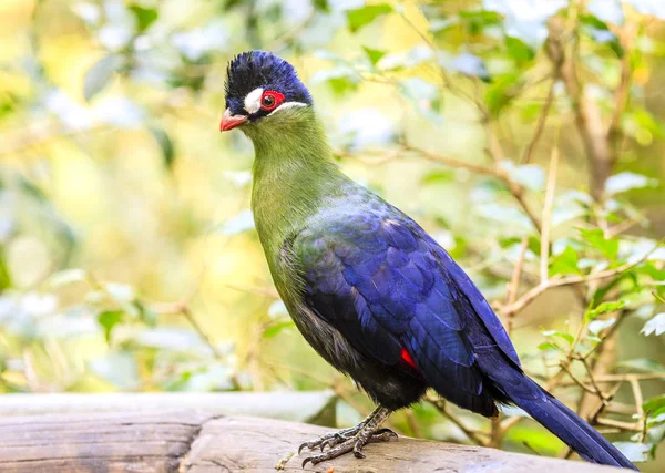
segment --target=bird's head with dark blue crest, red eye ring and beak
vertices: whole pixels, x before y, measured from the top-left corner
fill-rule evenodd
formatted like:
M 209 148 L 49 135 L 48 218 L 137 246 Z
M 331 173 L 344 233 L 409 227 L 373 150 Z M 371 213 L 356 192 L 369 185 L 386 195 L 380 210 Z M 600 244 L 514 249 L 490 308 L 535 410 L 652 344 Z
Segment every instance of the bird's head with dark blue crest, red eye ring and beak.
M 262 121 L 278 120 L 285 110 L 311 106 L 311 96 L 294 66 L 269 52 L 238 54 L 226 73 L 226 111 L 219 131 L 258 126 Z

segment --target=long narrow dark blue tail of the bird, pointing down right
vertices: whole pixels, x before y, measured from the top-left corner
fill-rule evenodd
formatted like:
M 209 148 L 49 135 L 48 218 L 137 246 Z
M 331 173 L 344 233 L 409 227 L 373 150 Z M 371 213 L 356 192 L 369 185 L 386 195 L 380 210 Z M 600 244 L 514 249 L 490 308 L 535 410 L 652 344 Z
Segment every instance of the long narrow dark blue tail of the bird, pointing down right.
M 561 439 L 584 460 L 638 471 L 612 443 L 582 418 L 523 373 L 511 383 L 494 382 L 512 402 Z M 518 382 L 514 382 L 518 381 Z

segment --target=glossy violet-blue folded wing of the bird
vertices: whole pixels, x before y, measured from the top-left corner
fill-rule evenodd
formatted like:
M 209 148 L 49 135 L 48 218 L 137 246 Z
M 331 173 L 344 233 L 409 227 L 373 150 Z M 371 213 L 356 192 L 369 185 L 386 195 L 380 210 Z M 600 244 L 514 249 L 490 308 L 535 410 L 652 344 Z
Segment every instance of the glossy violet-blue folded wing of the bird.
M 477 351 L 499 348 L 515 366 L 518 356 L 478 288 L 418 224 L 388 204 L 337 212 L 303 230 L 293 249 L 305 304 L 356 350 L 405 369 L 406 349 L 442 395 L 494 409 Z

